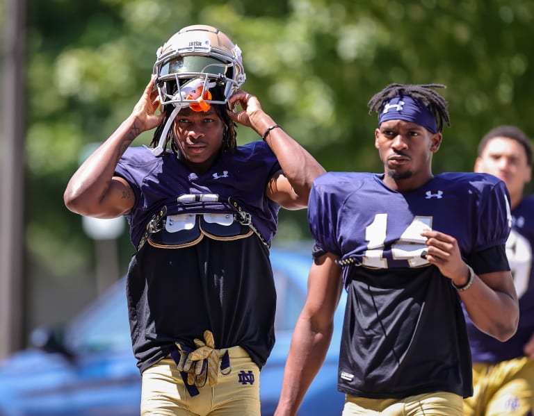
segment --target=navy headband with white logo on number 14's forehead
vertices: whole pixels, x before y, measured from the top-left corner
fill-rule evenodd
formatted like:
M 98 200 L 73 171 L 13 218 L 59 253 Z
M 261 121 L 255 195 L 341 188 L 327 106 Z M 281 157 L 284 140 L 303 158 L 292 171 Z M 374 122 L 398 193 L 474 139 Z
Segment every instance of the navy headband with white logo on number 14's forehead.
M 387 120 L 404 120 L 423 126 L 431 133 L 437 133 L 437 119 L 435 115 L 418 99 L 405 95 L 390 99 L 382 106 L 378 113 L 378 125 Z

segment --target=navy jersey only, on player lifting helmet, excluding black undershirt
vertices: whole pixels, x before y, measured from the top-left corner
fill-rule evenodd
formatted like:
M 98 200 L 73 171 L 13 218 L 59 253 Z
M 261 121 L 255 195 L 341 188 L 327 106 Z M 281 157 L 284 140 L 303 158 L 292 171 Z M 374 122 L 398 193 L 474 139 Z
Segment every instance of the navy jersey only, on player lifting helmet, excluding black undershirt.
M 231 212 L 232 197 L 243 210 L 252 215 L 254 225 L 267 242 L 277 227 L 280 206 L 265 196 L 268 180 L 280 171 L 278 160 L 259 140 L 239 146 L 234 153 L 221 154 L 204 174 L 194 174 L 174 153 L 168 151 L 156 157 L 147 147 L 133 147 L 120 158 L 115 174 L 125 178 L 136 196 L 136 203 L 127 215 L 130 238 L 135 247 L 145 232 L 149 220 L 167 206 L 168 215 L 181 213 Z M 204 198 L 201 195 L 217 195 Z M 197 201 L 178 203 L 177 198 L 197 195 Z

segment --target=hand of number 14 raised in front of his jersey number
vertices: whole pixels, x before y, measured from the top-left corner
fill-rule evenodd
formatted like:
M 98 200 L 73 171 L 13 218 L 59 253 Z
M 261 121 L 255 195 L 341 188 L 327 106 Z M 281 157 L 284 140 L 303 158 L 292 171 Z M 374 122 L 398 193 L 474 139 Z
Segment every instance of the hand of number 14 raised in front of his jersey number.
M 428 263 L 437 266 L 444 276 L 454 281 L 455 285 L 464 285 L 468 278 L 468 270 L 460 255 L 456 239 L 439 231 L 425 231 L 421 235 L 427 239 Z

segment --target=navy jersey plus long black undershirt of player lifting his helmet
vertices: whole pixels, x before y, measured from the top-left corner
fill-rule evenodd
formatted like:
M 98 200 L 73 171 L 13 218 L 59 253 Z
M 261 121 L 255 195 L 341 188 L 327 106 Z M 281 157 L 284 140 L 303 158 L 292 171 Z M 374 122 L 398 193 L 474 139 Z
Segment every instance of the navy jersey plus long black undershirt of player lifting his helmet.
M 235 213 L 229 197 L 250 213 L 266 242 L 275 234 L 280 206 L 266 197 L 265 188 L 280 164 L 264 142 L 223 153 L 204 174 L 193 174 L 173 153 L 156 157 L 147 148 L 128 149 L 115 171 L 136 195 L 127 215 L 135 246 L 162 206 L 168 207 L 166 232 L 177 214 L 202 215 L 207 221 L 214 213 Z M 264 365 L 275 342 L 275 285 L 266 244 L 254 233 L 247 235 L 206 233 L 180 247 L 146 242 L 133 255 L 127 299 L 141 372 L 168 356 L 175 342 L 195 348 L 193 340 L 202 340 L 206 330 L 216 348 L 239 345 Z

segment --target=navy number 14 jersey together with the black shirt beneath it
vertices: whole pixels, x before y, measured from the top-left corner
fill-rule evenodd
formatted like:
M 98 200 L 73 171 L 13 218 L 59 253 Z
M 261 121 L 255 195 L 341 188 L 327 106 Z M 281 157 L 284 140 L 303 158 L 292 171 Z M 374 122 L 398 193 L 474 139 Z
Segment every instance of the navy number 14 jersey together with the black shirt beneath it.
M 478 252 L 503 248 L 508 192 L 487 174 L 440 174 L 396 192 L 383 174 L 328 173 L 314 182 L 308 219 L 318 249 L 343 265 L 348 292 L 339 358 L 341 392 L 401 398 L 447 391 L 467 397 L 471 357 L 451 279 L 421 258 L 423 230 L 458 240 L 462 258 L 489 272 Z M 504 250 L 498 270 L 508 269 Z

